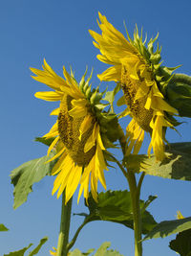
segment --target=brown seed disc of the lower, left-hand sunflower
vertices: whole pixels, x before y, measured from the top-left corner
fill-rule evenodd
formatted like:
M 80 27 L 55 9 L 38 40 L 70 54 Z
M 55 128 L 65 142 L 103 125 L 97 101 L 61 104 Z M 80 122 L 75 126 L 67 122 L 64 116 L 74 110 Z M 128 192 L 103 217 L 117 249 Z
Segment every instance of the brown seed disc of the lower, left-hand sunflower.
M 60 113 L 58 115 L 58 131 L 59 136 L 66 147 L 69 155 L 73 158 L 74 162 L 78 166 L 87 165 L 96 152 L 96 146 L 90 151 L 84 152 L 84 146 L 93 132 L 95 122 L 92 122 L 91 128 L 89 128 L 79 137 L 79 128 L 84 118 L 73 118 L 69 115 L 69 111 L 72 109 L 71 101 L 74 100 L 71 96 L 65 94 L 60 103 Z

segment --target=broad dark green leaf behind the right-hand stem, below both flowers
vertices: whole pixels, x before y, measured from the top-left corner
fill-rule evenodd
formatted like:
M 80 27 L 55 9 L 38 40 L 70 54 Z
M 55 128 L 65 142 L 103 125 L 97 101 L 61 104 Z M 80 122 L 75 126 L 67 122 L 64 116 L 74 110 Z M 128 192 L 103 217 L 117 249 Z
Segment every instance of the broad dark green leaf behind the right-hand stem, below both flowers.
M 151 197 L 146 202 L 140 200 L 143 234 L 147 234 L 157 224 L 152 215 L 145 211 L 154 198 L 156 197 Z M 101 192 L 98 194 L 97 203 L 90 195 L 86 206 L 90 211 L 90 214 L 85 217 L 86 223 L 90 221 L 113 221 L 134 228 L 131 196 L 128 191 Z

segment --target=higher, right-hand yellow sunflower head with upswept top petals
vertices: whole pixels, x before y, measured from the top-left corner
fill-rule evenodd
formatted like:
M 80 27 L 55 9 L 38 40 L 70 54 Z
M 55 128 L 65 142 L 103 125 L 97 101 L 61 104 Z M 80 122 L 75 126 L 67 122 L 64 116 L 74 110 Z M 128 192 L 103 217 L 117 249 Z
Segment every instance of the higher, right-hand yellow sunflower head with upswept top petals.
M 151 135 L 148 154 L 153 148 L 157 160 L 162 161 L 165 157 L 165 130 L 174 128 L 176 121 L 173 115 L 178 114 L 177 109 L 165 100 L 166 85 L 176 68 L 167 68 L 159 63 L 161 49 L 158 46 L 157 51 L 153 51 L 153 43 L 158 35 L 149 41 L 146 48 L 146 39 L 142 41 L 138 28 L 134 39 L 127 32 L 128 40 L 100 13 L 99 19 L 101 35 L 94 31 L 90 31 L 90 34 L 101 54 L 97 58 L 112 66 L 97 77 L 100 81 L 117 81 L 123 90 L 127 105 L 125 114 L 132 117 L 126 129 L 126 154 L 131 151 L 138 153 L 146 131 Z

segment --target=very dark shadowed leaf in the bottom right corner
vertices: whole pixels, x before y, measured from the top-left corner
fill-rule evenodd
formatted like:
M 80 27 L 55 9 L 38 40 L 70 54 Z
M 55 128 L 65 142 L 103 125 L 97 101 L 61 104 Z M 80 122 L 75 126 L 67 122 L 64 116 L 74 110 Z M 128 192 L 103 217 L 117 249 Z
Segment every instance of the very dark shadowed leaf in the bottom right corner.
M 180 232 L 175 240 L 172 240 L 169 244 L 172 250 L 175 250 L 180 256 L 191 255 L 191 229 Z

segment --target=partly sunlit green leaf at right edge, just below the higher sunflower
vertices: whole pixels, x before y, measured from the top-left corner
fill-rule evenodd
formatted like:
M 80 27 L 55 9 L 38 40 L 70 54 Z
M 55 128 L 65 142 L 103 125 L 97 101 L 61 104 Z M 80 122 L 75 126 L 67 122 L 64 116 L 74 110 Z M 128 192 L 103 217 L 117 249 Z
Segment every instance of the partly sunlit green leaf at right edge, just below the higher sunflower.
M 128 168 L 136 173 L 145 172 L 164 178 L 191 180 L 191 142 L 172 143 L 166 150 L 167 158 L 162 162 L 156 160 L 154 154 L 131 154 L 125 158 Z

